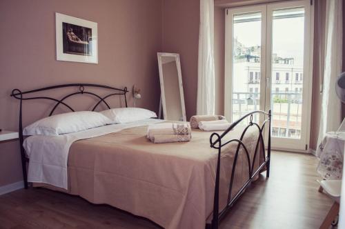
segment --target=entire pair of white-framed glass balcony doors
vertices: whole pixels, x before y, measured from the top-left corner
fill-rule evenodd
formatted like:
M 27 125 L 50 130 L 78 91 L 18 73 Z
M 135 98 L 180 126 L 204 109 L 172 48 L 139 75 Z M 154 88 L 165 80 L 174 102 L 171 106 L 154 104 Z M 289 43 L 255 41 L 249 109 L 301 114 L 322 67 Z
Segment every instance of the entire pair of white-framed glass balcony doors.
M 309 1 L 227 10 L 225 114 L 271 109 L 273 148 L 308 148 L 310 28 Z

